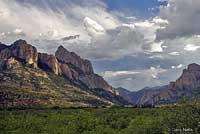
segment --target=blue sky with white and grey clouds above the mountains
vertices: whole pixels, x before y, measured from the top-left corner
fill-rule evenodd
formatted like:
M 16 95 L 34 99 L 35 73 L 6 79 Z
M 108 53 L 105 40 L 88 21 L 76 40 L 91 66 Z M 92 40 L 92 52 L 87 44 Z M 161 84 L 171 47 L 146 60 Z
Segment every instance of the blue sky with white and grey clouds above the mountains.
M 0 0 L 0 41 L 59 45 L 92 61 L 112 86 L 137 91 L 200 63 L 199 0 Z

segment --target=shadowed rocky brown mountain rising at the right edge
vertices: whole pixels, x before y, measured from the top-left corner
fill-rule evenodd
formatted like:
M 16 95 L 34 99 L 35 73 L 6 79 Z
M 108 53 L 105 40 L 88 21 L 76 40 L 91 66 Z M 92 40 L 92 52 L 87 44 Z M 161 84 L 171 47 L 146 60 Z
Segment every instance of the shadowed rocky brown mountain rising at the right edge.
M 157 96 L 149 99 L 155 104 L 174 103 L 183 97 L 193 97 L 200 93 L 200 65 L 193 63 L 183 70 L 182 75 L 161 91 Z

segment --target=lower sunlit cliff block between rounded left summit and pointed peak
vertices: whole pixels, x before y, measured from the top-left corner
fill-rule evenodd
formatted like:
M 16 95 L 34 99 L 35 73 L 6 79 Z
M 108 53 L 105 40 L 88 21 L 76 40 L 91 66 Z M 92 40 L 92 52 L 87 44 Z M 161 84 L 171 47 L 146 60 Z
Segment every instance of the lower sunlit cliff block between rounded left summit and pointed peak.
M 39 67 L 42 69 L 50 70 L 56 75 L 60 74 L 60 66 L 55 56 L 46 53 L 39 53 L 38 60 Z

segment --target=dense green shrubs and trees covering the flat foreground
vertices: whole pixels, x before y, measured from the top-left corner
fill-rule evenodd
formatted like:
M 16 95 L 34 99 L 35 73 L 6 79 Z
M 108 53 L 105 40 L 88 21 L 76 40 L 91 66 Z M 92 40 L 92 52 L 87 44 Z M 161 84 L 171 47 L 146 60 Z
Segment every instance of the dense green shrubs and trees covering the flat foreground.
M 0 134 L 198 134 L 200 107 L 1 110 Z

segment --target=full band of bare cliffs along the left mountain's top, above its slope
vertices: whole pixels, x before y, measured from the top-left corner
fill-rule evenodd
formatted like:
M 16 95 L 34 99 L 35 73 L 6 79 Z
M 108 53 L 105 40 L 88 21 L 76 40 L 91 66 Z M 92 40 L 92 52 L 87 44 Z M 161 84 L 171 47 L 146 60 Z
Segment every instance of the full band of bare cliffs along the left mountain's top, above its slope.
M 72 82 L 84 84 L 89 89 L 105 89 L 118 94 L 101 76 L 94 73 L 90 61 L 82 59 L 74 52 L 69 52 L 60 46 L 54 55 L 37 52 L 37 49 L 25 40 L 17 40 L 11 46 L 0 44 L 0 60 L 10 57 L 22 61 L 28 65 L 43 70 L 50 70 L 56 75 L 64 75 Z

